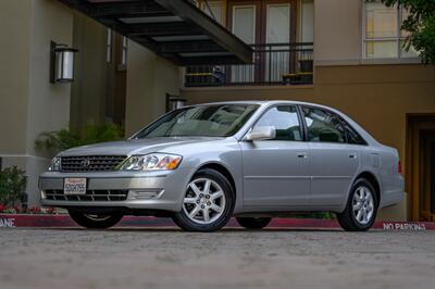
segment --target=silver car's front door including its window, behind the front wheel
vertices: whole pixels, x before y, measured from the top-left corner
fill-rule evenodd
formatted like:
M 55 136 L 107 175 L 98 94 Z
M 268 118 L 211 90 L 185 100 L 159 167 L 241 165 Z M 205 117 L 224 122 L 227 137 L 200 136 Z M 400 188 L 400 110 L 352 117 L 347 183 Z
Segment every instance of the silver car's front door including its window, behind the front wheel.
M 240 141 L 244 205 L 309 205 L 309 150 L 294 105 L 269 109 L 254 127 L 274 126 L 270 140 Z

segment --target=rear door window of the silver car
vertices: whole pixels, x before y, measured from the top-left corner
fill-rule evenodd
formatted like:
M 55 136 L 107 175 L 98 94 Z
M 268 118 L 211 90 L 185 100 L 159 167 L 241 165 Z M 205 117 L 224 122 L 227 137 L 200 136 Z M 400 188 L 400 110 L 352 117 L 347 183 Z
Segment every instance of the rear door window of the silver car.
M 308 140 L 319 142 L 346 142 L 346 133 L 335 113 L 303 108 L 308 128 Z

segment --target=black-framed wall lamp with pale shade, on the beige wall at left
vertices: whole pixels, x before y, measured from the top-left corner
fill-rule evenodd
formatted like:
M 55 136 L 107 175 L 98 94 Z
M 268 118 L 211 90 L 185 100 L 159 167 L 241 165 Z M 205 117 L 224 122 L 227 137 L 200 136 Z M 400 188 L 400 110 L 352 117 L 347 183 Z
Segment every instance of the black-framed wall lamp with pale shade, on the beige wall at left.
M 66 45 L 50 42 L 50 83 L 72 83 L 74 80 L 74 54 L 77 49 Z

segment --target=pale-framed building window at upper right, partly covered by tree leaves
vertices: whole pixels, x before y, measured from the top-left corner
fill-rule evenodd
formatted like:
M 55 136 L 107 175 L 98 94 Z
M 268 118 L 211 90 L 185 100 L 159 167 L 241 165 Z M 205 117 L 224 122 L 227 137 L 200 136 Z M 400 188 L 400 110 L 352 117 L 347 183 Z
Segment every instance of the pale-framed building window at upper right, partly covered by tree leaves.
M 364 58 L 415 58 L 417 51 L 403 48 L 407 32 L 400 29 L 408 11 L 400 7 L 386 7 L 381 1 L 364 1 Z

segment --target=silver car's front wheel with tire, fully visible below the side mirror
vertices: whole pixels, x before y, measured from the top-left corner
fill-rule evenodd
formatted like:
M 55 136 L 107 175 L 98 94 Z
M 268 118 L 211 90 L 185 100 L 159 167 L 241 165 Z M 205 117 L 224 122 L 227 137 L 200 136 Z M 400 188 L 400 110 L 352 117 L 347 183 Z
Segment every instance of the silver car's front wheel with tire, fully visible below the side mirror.
M 183 197 L 183 208 L 173 221 L 187 231 L 215 231 L 228 223 L 235 192 L 219 172 L 201 169 L 191 178 Z

